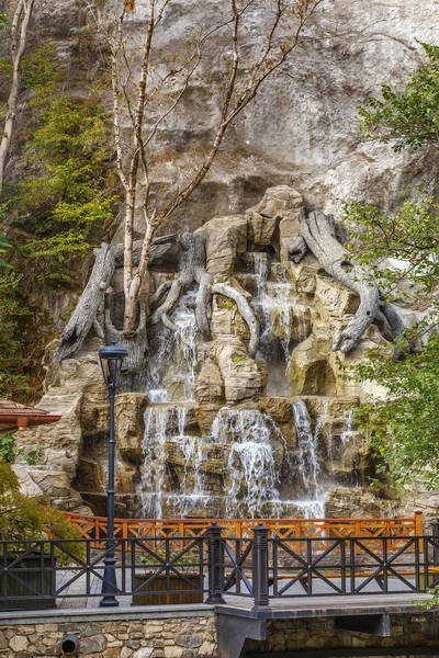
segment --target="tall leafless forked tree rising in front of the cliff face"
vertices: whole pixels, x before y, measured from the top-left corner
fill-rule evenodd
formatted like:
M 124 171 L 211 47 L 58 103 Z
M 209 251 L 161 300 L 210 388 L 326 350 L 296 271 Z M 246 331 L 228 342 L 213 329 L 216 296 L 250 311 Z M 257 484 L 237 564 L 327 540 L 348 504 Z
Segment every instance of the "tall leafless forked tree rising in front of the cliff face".
M 113 125 L 116 147 L 117 172 L 125 195 L 124 225 L 124 330 L 135 326 L 137 299 L 145 276 L 153 239 L 159 226 L 196 190 L 210 171 L 226 131 L 239 113 L 257 95 L 261 84 L 285 63 L 301 43 L 303 29 L 318 4 L 324 0 L 264 0 L 263 42 L 260 52 L 246 53 L 243 37 L 246 19 L 256 0 L 228 0 L 224 2 L 222 21 L 207 29 L 200 29 L 173 57 L 156 55 L 155 36 L 171 0 L 149 0 L 149 15 L 142 48 L 142 63 L 136 76 L 133 67 L 135 53 L 130 52 L 124 30 L 126 18 L 135 11 L 134 2 L 125 0 L 115 24 L 105 30 L 111 48 L 113 91 Z M 98 23 L 104 25 L 102 15 Z M 268 25 L 268 29 L 267 29 Z M 215 39 L 228 37 L 230 56 L 222 83 L 222 105 L 212 143 L 203 157 L 191 162 L 189 169 L 171 156 L 184 184 L 167 190 L 166 201 L 151 203 L 154 164 L 157 162 L 157 134 L 162 124 L 179 111 L 191 79 L 198 71 L 206 49 L 215 47 Z M 224 42 L 223 42 L 224 43 Z M 161 70 L 160 70 L 161 69 Z M 130 116 L 130 156 L 121 131 L 121 117 Z M 134 266 L 134 220 L 137 200 L 145 222 L 145 234 L 138 265 Z M 161 203 L 160 203 L 161 202 Z

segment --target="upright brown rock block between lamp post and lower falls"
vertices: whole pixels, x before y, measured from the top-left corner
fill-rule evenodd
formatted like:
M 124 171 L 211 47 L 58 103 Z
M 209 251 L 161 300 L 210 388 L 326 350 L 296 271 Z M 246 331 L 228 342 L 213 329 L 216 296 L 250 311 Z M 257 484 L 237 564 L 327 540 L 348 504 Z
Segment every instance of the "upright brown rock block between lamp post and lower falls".
M 144 393 L 123 393 L 115 399 L 117 447 L 123 458 L 142 463 L 145 434 L 144 415 L 148 402 Z

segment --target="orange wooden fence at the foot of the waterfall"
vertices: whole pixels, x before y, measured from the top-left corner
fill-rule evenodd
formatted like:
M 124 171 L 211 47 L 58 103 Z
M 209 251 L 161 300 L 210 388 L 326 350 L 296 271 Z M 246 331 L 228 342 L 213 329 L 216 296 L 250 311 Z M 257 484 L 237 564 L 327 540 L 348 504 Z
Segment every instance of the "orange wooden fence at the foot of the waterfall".
M 81 535 L 91 540 L 106 537 L 106 519 L 65 512 Z M 116 538 L 138 537 L 157 540 L 165 537 L 195 537 L 202 535 L 212 523 L 223 529 L 224 537 L 251 538 L 251 529 L 263 523 L 281 540 L 315 538 L 315 547 L 325 548 L 325 537 L 364 537 L 373 543 L 374 537 L 393 537 L 395 547 L 398 538 L 423 534 L 423 513 L 410 518 L 395 519 L 116 519 Z

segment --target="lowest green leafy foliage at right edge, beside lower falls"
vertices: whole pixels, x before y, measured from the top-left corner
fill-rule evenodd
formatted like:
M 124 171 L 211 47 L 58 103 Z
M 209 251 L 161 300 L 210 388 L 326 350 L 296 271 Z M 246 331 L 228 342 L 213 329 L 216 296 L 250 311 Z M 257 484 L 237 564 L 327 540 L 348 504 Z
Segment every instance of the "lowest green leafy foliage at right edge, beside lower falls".
M 371 442 L 379 474 L 399 488 L 421 478 L 432 489 L 439 485 L 439 337 L 412 353 L 407 347 L 401 345 L 401 360 L 372 352 L 357 366 L 356 378 L 375 381 L 387 397 L 359 407 L 356 423 Z

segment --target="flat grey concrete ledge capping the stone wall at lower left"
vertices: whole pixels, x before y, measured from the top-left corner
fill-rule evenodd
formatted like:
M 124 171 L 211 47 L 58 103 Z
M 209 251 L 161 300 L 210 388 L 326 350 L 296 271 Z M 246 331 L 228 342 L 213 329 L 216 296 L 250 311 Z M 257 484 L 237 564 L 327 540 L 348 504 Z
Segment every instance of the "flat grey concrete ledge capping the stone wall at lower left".
M 56 608 L 54 610 L 14 610 L 0 612 L 0 626 L 14 624 L 56 624 L 64 622 L 116 622 L 120 620 L 169 620 L 179 617 L 210 617 L 214 605 L 136 605 L 130 608 Z

